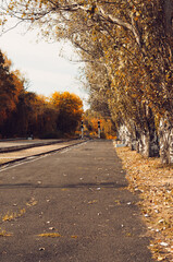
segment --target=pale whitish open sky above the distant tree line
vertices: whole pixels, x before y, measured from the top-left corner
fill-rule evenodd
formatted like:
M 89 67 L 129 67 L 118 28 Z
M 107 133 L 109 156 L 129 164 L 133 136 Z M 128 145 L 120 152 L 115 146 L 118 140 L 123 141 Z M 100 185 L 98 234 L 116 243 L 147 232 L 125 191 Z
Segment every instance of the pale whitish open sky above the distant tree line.
M 53 92 L 71 92 L 86 99 L 78 76 L 79 63 L 69 61 L 74 56 L 70 44 L 48 44 L 37 40 L 36 32 L 22 34 L 22 28 L 9 31 L 0 36 L 0 49 L 12 60 L 13 68 L 18 69 L 29 80 L 29 90 L 45 96 Z M 85 103 L 85 109 L 87 108 Z

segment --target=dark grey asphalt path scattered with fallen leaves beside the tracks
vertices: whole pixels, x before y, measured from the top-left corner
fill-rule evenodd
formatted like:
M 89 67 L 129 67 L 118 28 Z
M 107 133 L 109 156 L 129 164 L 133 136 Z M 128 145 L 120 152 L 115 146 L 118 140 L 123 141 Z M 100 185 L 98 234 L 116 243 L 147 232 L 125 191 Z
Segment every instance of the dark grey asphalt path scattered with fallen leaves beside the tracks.
M 0 171 L 0 261 L 151 262 L 126 184 L 109 141 Z

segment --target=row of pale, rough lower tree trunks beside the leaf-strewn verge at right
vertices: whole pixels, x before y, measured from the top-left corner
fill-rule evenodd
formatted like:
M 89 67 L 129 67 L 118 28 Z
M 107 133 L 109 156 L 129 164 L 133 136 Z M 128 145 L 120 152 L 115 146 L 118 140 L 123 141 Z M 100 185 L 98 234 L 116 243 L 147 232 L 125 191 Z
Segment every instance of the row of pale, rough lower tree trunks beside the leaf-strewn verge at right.
M 173 164 L 173 127 L 168 119 L 161 119 L 158 131 L 155 122 L 150 122 L 146 130 L 136 128 L 135 134 L 124 123 L 119 129 L 118 138 L 145 157 L 160 156 L 162 164 Z

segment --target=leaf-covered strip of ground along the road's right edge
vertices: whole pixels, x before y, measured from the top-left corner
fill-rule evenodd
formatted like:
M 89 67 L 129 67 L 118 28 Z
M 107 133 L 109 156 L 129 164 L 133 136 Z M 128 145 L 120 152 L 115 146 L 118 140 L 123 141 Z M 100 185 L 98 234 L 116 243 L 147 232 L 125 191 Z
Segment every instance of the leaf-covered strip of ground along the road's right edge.
M 140 192 L 139 203 L 151 237 L 150 250 L 157 261 L 173 261 L 173 168 L 159 158 L 144 158 L 128 147 L 118 147 L 118 156 L 132 192 Z

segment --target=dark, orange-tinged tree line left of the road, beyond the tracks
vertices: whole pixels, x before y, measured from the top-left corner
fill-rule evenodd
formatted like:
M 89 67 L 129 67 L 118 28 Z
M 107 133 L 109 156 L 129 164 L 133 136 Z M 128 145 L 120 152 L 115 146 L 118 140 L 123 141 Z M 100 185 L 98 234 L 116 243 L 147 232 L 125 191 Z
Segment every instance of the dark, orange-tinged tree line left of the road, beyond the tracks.
M 20 71 L 0 51 L 0 138 L 60 138 L 73 134 L 82 120 L 83 102 L 69 92 L 50 97 L 28 92 Z

